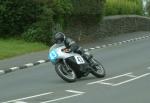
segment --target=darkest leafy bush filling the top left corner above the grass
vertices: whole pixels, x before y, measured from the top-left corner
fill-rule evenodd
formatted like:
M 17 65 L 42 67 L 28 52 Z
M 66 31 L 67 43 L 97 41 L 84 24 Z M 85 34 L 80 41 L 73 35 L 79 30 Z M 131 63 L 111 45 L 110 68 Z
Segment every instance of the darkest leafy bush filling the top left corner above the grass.
M 0 0 L 0 37 L 20 35 L 40 12 L 40 4 L 33 0 Z

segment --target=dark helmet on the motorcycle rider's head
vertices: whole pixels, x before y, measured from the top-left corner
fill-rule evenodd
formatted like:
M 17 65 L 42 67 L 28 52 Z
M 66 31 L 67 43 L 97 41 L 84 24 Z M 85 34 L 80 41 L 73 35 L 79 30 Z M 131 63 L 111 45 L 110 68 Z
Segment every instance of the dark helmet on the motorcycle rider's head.
M 58 32 L 54 36 L 54 42 L 56 44 L 61 44 L 65 40 L 65 34 L 62 32 Z

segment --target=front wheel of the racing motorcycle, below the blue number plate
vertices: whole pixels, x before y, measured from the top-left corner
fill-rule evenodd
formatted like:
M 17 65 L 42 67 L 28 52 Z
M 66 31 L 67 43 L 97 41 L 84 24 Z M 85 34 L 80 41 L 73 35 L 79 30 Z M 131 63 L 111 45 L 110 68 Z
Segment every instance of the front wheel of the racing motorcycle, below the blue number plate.
M 77 76 L 73 69 L 70 67 L 67 68 L 64 64 L 58 63 L 55 65 L 55 71 L 66 82 L 75 82 L 77 79 Z

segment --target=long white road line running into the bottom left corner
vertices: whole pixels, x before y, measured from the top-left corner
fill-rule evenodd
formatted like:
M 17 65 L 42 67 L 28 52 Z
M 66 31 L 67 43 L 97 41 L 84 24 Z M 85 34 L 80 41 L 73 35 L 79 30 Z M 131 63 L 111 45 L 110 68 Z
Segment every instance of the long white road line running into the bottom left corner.
M 10 100 L 10 101 L 6 101 L 6 102 L 2 102 L 2 103 L 14 103 L 17 101 L 22 101 L 22 100 L 26 100 L 26 99 L 31 99 L 31 98 L 36 98 L 36 97 L 40 97 L 40 96 L 45 96 L 45 95 L 49 95 L 52 94 L 53 92 L 48 92 L 48 93 L 42 93 L 42 94 L 38 94 L 38 95 L 34 95 L 34 96 L 29 96 L 29 97 L 24 97 L 24 98 L 20 98 L 20 99 L 14 99 L 14 100 Z

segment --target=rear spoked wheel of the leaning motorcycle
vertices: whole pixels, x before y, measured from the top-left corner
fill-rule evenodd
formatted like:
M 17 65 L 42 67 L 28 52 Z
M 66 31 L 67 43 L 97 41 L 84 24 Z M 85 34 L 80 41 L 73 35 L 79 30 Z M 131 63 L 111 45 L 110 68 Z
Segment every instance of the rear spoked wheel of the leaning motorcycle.
M 95 64 L 93 67 L 92 67 L 92 70 L 91 70 L 91 73 L 97 77 L 97 78 L 102 78 L 105 76 L 105 69 L 103 67 L 103 65 L 98 61 L 96 60 L 95 58 L 92 58 L 91 59 L 92 62 Z

